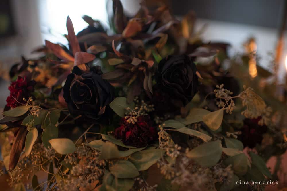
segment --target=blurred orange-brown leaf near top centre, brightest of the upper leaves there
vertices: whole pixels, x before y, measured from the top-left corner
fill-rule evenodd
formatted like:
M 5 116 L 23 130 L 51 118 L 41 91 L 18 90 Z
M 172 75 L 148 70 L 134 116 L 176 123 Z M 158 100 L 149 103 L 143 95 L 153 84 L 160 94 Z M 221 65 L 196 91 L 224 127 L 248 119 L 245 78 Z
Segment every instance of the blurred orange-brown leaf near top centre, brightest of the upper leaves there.
M 122 33 L 122 36 L 124 38 L 135 36 L 139 31 L 142 30 L 143 25 L 144 21 L 142 19 L 138 18 L 130 19 Z

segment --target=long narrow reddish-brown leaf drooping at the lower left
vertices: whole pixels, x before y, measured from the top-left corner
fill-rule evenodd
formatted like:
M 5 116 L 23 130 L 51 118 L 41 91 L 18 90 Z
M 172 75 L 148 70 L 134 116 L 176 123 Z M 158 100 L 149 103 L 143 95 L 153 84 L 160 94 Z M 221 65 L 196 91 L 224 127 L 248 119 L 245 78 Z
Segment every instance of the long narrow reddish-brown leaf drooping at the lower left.
M 14 169 L 18 163 L 20 154 L 25 146 L 25 140 L 28 130 L 26 127 L 20 127 L 15 133 L 15 139 L 10 151 L 9 169 Z

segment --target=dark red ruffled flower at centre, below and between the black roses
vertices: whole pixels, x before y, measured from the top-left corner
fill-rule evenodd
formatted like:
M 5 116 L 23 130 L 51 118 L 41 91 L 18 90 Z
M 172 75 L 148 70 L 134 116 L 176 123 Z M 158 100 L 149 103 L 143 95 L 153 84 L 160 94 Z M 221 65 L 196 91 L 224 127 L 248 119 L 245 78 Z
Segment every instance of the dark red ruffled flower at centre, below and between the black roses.
M 115 130 L 116 139 L 121 139 L 125 145 L 145 147 L 156 139 L 156 130 L 150 126 L 150 117 L 141 115 L 135 124 L 122 118 L 120 127 Z

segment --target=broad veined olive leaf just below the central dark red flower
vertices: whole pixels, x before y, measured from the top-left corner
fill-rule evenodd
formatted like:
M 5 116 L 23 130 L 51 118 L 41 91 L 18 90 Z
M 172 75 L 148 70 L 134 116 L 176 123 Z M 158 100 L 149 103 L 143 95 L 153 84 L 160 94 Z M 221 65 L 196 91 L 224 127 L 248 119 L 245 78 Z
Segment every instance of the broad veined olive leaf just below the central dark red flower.
M 147 170 L 155 164 L 163 155 L 162 149 L 148 149 L 136 152 L 131 155 L 129 160 L 135 165 L 137 170 Z

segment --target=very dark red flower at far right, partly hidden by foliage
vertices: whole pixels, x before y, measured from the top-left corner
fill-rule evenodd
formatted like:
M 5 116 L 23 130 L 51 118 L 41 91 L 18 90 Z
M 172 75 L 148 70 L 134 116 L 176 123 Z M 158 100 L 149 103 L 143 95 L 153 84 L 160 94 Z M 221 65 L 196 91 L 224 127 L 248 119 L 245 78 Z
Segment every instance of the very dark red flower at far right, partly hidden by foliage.
M 263 134 L 267 132 L 267 126 L 258 125 L 261 117 L 256 119 L 244 119 L 242 134 L 238 135 L 238 139 L 243 143 L 244 147 L 254 148 L 257 144 L 261 144 Z

